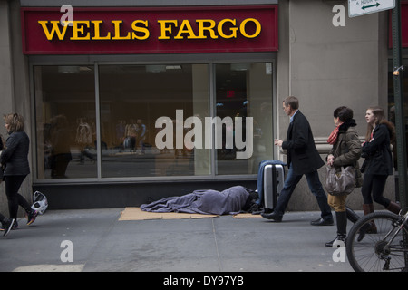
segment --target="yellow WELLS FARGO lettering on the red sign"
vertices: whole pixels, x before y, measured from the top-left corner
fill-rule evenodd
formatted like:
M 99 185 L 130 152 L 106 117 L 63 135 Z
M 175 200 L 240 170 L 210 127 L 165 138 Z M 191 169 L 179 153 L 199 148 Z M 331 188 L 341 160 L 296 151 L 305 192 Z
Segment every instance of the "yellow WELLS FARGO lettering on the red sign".
M 182 20 L 180 26 L 178 20 L 158 20 L 160 25 L 158 39 L 231 39 L 238 37 L 238 31 L 245 38 L 255 38 L 262 31 L 262 25 L 255 18 L 247 18 L 240 24 L 237 19 L 222 19 L 219 22 L 212 19 L 196 19 L 195 22 L 197 25 L 193 25 L 193 29 L 188 19 Z M 102 20 L 72 21 L 65 22 L 65 25 L 62 25 L 58 20 L 40 20 L 38 24 L 42 26 L 45 37 L 49 41 L 53 39 L 63 40 L 68 27 L 72 27 L 73 30 L 70 40 L 79 41 L 146 40 L 151 36 L 148 20 L 134 20 L 131 23 L 131 31 L 127 32 L 121 31 L 121 29 L 124 30 L 123 27 L 125 26 L 122 20 L 112 20 L 113 29 L 110 29 L 112 31 L 103 30 L 105 32 L 102 32 Z

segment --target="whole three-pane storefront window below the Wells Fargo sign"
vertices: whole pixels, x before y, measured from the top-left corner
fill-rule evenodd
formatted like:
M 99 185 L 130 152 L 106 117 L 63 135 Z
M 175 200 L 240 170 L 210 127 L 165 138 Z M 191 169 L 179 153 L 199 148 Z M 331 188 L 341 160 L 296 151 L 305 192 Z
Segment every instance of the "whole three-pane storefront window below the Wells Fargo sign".
M 248 175 L 272 159 L 271 63 L 96 68 L 34 66 L 37 179 Z

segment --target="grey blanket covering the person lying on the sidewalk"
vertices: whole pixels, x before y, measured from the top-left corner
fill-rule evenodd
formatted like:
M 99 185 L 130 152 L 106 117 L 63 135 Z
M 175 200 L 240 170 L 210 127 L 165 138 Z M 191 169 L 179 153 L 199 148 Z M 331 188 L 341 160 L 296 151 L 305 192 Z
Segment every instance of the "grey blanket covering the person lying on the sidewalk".
M 162 198 L 141 205 L 141 210 L 151 212 L 181 212 L 204 215 L 237 214 L 247 203 L 249 189 L 235 186 L 223 191 L 194 190 L 181 197 Z

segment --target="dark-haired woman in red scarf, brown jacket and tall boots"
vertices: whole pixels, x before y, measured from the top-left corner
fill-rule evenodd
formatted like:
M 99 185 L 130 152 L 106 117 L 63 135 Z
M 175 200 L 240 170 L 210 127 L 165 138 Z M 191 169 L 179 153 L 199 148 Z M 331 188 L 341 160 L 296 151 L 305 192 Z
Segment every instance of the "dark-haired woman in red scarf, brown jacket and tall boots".
M 335 109 L 333 116 L 335 130 L 327 140 L 327 143 L 333 145 L 333 147 L 327 156 L 327 165 L 334 166 L 336 171 L 341 171 L 341 167 L 354 166 L 357 172 L 357 183 L 361 183 L 361 172 L 357 162 L 361 155 L 361 142 L 355 130 L 357 124 L 353 119 L 353 110 L 345 106 L 338 107 Z M 325 243 L 326 247 L 333 247 L 333 244 L 338 240 L 345 243 L 347 237 L 346 198 L 347 194 L 339 196 L 328 195 L 328 204 L 335 209 L 337 236 L 334 240 Z

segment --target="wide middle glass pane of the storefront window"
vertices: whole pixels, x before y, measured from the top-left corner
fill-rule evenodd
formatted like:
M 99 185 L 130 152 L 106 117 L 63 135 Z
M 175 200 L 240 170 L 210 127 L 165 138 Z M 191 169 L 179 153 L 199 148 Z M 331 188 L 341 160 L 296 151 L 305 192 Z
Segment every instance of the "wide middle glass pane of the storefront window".
M 101 65 L 99 80 L 102 177 L 210 174 L 182 124 L 209 116 L 208 64 Z

